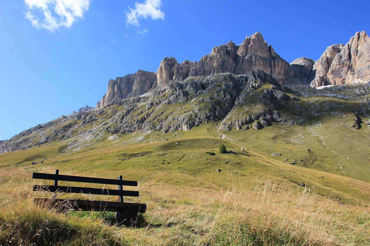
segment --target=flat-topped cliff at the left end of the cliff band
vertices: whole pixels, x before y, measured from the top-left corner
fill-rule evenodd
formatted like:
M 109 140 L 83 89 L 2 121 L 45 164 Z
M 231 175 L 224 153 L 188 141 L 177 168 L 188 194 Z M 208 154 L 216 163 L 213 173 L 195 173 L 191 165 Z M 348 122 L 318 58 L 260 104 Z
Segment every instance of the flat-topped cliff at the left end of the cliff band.
M 128 74 L 108 82 L 107 93 L 103 96 L 96 108 L 107 106 L 114 100 L 132 98 L 147 93 L 156 86 L 157 75 L 154 72 L 138 70 L 135 74 Z

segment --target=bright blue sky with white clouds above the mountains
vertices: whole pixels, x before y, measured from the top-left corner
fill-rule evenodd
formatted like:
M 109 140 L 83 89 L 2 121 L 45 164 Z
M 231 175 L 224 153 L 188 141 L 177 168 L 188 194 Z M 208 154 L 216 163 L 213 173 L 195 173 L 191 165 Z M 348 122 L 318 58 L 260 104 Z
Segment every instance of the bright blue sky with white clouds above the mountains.
M 370 34 L 370 1 L 0 0 L 0 140 L 85 105 L 109 79 L 199 61 L 256 31 L 282 58 L 318 59 Z

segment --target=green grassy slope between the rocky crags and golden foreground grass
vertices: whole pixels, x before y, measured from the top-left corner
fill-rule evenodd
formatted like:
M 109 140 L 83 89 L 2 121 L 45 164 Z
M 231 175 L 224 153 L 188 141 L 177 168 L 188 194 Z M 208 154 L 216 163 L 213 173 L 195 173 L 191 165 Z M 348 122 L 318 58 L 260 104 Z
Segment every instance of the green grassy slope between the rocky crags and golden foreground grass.
M 290 187 L 299 188 L 299 184 L 305 183 L 307 187 L 314 187 L 318 194 L 333 199 L 368 203 L 370 184 L 366 150 L 369 147 L 363 143 L 357 146 L 357 142 L 366 140 L 367 126 L 344 134 L 340 127 L 330 127 L 329 131 L 325 127 L 329 123 L 320 126 L 316 122 L 320 121 L 292 127 L 273 124 L 259 131 L 232 130 L 226 133 L 229 139 L 219 138 L 216 123 L 194 127 L 187 132 L 137 132 L 122 135 L 118 140 L 105 140 L 77 151 L 71 152 L 74 148 L 70 148 L 61 153 L 74 143 L 68 140 L 3 153 L 0 166 L 6 169 L 25 166 L 25 172 L 29 173 L 52 166 L 61 172 L 73 170 L 83 175 L 94 173 L 115 177 L 122 174 L 126 179 L 142 183 L 185 188 L 219 189 L 231 176 L 234 181 L 247 186 L 256 179 L 278 184 L 288 181 Z M 351 140 L 354 137 L 357 141 Z M 344 141 L 346 138 L 349 141 Z M 238 154 L 219 154 L 220 143 Z M 245 151 L 240 150 L 242 147 Z M 147 153 L 141 157 L 128 156 L 144 151 Z M 214 151 L 216 155 L 210 156 L 206 151 Z M 273 152 L 282 155 L 271 156 Z M 31 165 L 32 161 L 39 164 Z M 40 164 L 40 161 L 44 163 Z M 289 164 L 293 161 L 295 165 Z M 216 172 L 216 169 L 221 172 Z

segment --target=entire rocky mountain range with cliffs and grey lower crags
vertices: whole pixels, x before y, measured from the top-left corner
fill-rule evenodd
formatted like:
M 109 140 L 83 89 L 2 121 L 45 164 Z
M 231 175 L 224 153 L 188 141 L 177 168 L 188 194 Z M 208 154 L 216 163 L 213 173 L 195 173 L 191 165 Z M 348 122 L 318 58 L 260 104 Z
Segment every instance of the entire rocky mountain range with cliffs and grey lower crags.
M 275 123 L 303 125 L 320 116 L 350 117 L 349 128 L 360 129 L 369 123 L 369 82 L 370 38 L 364 31 L 345 45 L 330 45 L 317 61 L 302 57 L 290 64 L 257 32 L 239 45 L 213 47 L 198 62 L 165 57 L 157 72 L 110 79 L 95 109 L 22 131 L 0 141 L 0 152 L 87 134 L 97 141 L 135 131 L 188 131 L 210 122 L 219 122 L 221 136 Z

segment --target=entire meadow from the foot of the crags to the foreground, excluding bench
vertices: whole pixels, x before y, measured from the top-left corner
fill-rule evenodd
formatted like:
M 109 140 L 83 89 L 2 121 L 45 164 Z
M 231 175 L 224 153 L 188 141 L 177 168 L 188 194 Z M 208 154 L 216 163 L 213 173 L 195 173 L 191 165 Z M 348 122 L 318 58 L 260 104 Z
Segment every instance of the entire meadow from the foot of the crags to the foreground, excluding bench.
M 77 136 L 0 154 L 0 244 L 370 245 L 367 127 L 348 131 L 331 118 L 259 131 L 218 132 L 216 125 L 89 144 Z M 219 153 L 221 144 L 228 153 Z M 55 169 L 137 180 L 140 196 L 124 200 L 147 204 L 147 212 L 117 225 L 111 212 L 33 204 L 51 194 L 32 185 L 51 181 L 32 180 L 32 172 Z

